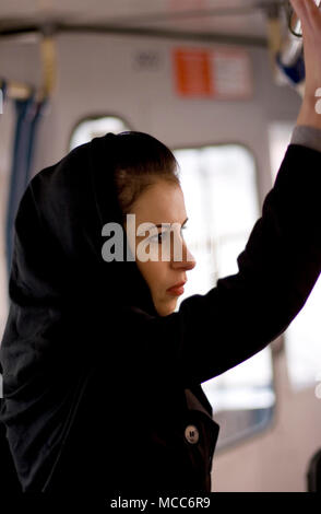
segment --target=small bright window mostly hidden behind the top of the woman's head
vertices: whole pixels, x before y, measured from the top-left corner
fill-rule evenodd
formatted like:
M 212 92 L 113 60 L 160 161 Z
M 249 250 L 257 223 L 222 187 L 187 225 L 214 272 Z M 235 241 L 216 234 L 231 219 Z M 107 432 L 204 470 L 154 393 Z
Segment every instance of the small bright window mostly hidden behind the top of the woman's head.
M 85 118 L 78 122 L 76 127 L 72 130 L 69 150 L 73 150 L 75 147 L 86 143 L 93 138 L 105 136 L 107 132 L 118 133 L 124 130 L 130 130 L 129 126 L 117 116 Z

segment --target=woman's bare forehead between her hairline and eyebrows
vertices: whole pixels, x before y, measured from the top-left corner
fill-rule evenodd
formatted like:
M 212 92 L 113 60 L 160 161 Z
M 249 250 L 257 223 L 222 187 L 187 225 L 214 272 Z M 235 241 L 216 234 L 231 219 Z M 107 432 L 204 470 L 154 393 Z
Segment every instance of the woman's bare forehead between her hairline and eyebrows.
M 151 223 L 182 223 L 186 215 L 183 194 L 179 185 L 158 180 L 147 187 L 133 205 L 138 221 Z

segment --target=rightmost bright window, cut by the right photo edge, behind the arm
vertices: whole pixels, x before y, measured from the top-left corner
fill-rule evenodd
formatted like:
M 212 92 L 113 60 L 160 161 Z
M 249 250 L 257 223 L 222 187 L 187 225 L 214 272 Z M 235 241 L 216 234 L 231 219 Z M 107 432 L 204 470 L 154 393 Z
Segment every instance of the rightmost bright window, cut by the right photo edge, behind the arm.
M 295 121 L 292 124 L 278 121 L 270 127 L 270 152 L 276 171 L 290 141 L 294 126 Z M 319 398 L 321 395 L 317 392 L 318 382 L 321 382 L 320 305 L 321 279 L 317 281 L 305 308 L 285 331 L 286 362 L 293 390 L 316 386 L 316 395 Z

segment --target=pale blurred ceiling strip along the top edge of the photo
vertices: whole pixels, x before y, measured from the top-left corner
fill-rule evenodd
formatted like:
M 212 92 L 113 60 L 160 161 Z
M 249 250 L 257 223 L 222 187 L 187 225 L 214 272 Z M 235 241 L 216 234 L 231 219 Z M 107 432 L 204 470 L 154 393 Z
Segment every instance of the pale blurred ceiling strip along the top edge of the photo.
M 280 0 L 5 0 L 0 28 L 44 22 L 266 35 L 264 7 Z

